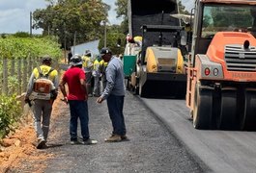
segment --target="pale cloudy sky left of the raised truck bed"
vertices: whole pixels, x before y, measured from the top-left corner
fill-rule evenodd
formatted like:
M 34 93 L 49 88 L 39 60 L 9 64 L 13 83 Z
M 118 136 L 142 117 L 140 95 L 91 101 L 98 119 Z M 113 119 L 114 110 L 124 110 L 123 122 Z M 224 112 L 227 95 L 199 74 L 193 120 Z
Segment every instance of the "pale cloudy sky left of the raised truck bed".
M 108 19 L 111 24 L 119 24 L 116 19 L 115 0 L 102 0 L 111 6 Z M 0 0 L 0 33 L 13 34 L 16 32 L 27 32 L 30 30 L 30 12 L 36 9 L 44 9 L 44 0 Z M 42 30 L 33 30 L 33 34 L 41 34 Z

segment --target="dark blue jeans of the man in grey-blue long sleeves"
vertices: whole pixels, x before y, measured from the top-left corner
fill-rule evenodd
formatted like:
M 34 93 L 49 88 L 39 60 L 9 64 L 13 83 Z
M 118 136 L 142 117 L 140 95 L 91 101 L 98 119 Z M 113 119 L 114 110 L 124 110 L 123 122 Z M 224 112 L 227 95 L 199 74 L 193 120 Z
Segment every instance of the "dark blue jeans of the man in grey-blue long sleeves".
M 125 96 L 110 94 L 107 99 L 107 108 L 113 126 L 113 134 L 125 136 L 127 134 L 125 117 L 123 114 Z

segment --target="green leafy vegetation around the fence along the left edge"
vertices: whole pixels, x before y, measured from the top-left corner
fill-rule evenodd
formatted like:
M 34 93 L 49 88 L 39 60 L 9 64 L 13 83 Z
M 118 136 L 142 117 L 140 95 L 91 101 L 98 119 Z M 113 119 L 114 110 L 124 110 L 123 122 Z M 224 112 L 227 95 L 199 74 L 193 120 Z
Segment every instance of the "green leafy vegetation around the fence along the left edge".
M 18 37 L 17 37 L 18 36 Z M 19 37 L 22 36 L 22 37 Z M 62 56 L 60 45 L 52 37 L 27 37 L 26 35 L 15 35 L 15 37 L 5 36 L 0 38 L 0 60 L 3 59 L 27 59 L 30 57 L 36 62 L 39 57 L 45 54 L 58 61 Z M 0 62 L 0 80 L 3 70 L 8 68 L 8 93 L 0 95 L 0 138 L 6 136 L 12 129 L 14 123 L 20 119 L 22 114 L 20 103 L 16 100 L 17 89 L 21 84 L 18 83 L 17 73 L 11 75 L 12 62 L 8 61 L 7 66 Z M 37 63 L 37 62 L 36 62 Z M 17 66 L 15 66 L 17 67 Z M 25 67 L 23 67 L 25 68 Z M 22 68 L 22 69 L 23 69 Z M 16 69 L 13 69 L 16 71 Z M 28 71 L 31 73 L 31 71 Z M 23 82 L 24 83 L 24 82 Z M 1 90 L 0 86 L 0 90 Z

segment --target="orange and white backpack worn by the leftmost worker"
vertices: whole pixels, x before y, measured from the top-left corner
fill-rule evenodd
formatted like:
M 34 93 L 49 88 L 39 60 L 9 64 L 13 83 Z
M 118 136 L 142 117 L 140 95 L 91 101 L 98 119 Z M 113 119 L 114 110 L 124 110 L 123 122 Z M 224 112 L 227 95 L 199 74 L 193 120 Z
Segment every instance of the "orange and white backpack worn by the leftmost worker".
M 50 68 L 48 73 L 43 75 L 43 71 L 40 67 L 37 67 L 39 71 L 39 78 L 35 79 L 33 91 L 31 93 L 33 99 L 50 100 L 52 97 L 52 91 L 55 90 L 55 86 L 52 81 L 48 79 L 49 74 L 54 70 Z

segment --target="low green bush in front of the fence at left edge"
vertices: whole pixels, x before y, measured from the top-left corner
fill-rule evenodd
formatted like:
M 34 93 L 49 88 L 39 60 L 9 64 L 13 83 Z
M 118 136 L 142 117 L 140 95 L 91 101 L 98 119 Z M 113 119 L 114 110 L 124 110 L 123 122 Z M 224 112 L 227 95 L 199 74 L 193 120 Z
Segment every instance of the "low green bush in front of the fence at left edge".
M 0 138 L 10 133 L 12 125 L 20 119 L 21 114 L 20 102 L 15 95 L 0 95 Z

